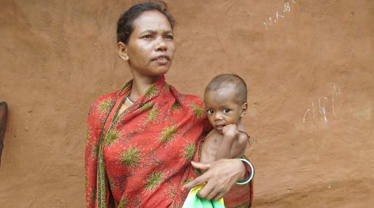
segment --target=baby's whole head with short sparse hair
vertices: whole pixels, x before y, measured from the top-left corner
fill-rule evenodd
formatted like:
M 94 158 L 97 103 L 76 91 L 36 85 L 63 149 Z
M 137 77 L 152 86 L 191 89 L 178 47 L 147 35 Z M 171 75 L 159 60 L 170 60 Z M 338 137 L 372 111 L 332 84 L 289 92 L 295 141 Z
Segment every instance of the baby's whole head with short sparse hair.
M 205 88 L 204 104 L 210 124 L 222 133 L 224 126 L 238 125 L 247 112 L 247 85 L 236 74 L 218 75 Z

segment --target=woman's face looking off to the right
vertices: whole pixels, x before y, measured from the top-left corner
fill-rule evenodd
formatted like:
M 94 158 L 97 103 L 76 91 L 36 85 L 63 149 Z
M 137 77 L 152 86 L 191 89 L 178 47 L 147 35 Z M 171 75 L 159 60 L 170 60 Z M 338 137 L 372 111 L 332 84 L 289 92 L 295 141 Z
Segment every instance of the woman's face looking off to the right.
M 134 21 L 125 46 L 134 75 L 160 76 L 168 72 L 174 58 L 174 34 L 159 11 L 145 11 Z

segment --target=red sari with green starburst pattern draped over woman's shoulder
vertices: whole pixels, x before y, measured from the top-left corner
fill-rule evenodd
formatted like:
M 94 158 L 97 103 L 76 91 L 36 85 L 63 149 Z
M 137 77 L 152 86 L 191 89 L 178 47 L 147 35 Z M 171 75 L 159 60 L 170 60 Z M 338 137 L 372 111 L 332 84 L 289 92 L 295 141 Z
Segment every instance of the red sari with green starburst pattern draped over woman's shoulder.
M 90 107 L 86 206 L 106 208 L 110 194 L 118 208 L 182 207 L 188 191 L 181 187 L 197 176 L 191 160 L 208 124 L 202 99 L 179 94 L 162 76 L 118 114 L 131 87 Z

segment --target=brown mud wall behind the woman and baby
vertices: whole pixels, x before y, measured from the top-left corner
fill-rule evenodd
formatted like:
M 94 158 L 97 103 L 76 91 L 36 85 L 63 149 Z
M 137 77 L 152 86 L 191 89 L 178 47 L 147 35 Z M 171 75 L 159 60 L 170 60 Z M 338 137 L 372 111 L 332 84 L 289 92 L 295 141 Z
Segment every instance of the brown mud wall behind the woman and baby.
M 1 208 L 85 205 L 86 115 L 131 78 L 115 25 L 135 2 L 1 0 Z M 168 82 L 195 95 L 219 73 L 248 84 L 254 207 L 374 203 L 374 1 L 168 2 Z

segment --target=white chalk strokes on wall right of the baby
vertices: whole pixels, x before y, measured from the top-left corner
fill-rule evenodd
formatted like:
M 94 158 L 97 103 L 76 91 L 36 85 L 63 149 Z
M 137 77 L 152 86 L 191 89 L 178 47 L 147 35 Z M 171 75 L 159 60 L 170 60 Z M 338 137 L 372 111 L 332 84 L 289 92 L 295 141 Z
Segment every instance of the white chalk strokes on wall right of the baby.
M 314 99 L 304 113 L 303 123 L 307 121 L 327 122 L 331 117 L 339 114 L 337 101 L 340 99 L 341 90 L 336 84 L 329 95 Z

